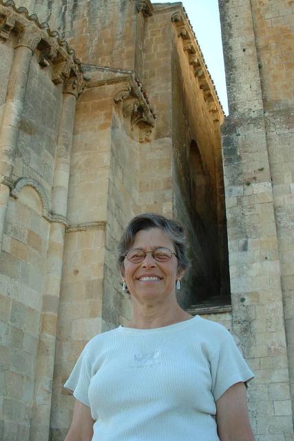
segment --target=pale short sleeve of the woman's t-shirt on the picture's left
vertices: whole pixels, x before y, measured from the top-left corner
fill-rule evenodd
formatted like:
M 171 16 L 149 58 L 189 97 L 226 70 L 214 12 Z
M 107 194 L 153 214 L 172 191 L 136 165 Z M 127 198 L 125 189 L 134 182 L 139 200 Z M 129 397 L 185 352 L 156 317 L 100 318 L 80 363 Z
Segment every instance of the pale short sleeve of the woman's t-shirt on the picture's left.
M 70 391 L 73 391 L 74 398 L 81 401 L 87 407 L 90 407 L 88 389 L 91 380 L 91 371 L 92 367 L 86 345 L 79 356 L 74 369 L 72 369 L 70 377 L 65 382 L 64 387 L 66 389 L 70 389 Z

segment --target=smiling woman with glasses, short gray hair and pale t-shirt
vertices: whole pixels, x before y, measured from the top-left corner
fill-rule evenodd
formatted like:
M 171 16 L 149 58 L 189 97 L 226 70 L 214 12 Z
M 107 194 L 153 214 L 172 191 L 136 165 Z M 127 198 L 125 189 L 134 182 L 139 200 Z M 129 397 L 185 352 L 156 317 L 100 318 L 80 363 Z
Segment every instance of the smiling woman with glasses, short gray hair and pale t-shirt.
M 176 300 L 189 265 L 181 225 L 136 216 L 118 249 L 133 318 L 81 353 L 65 383 L 76 398 L 65 441 L 254 441 L 253 373 L 227 329 Z

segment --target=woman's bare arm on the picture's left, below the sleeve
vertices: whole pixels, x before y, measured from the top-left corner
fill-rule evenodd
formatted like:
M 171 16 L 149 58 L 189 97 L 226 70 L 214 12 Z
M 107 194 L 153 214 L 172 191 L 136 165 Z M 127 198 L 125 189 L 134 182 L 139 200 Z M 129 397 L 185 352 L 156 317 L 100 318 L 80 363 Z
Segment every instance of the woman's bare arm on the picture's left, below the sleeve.
M 93 424 L 94 420 L 92 420 L 90 407 L 76 400 L 72 424 L 70 424 L 70 430 L 65 437 L 65 441 L 91 441 Z

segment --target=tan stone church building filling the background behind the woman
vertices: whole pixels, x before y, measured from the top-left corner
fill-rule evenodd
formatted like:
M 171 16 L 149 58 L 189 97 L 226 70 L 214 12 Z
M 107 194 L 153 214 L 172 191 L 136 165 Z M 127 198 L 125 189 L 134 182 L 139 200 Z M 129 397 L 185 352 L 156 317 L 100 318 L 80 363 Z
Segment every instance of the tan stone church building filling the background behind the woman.
M 294 1 L 219 7 L 227 117 L 182 3 L 0 0 L 1 440 L 64 440 L 142 212 L 185 225 L 178 300 L 240 345 L 256 440 L 293 440 Z

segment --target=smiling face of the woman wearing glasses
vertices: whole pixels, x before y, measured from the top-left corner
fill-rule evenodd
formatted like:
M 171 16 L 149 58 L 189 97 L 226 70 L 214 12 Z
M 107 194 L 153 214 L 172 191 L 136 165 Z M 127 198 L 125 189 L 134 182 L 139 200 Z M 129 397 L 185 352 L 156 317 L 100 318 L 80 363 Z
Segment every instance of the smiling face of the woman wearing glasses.
M 154 251 L 158 247 L 175 252 L 171 239 L 160 228 L 140 230 L 132 249 Z M 173 254 L 167 262 L 158 262 L 147 253 L 143 262 L 132 263 L 125 257 L 125 272 L 122 274 L 129 292 L 138 300 L 162 299 L 175 294 L 176 279 L 182 276 L 178 271 L 178 259 Z

